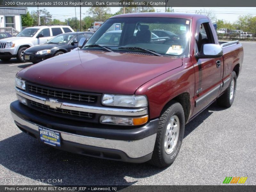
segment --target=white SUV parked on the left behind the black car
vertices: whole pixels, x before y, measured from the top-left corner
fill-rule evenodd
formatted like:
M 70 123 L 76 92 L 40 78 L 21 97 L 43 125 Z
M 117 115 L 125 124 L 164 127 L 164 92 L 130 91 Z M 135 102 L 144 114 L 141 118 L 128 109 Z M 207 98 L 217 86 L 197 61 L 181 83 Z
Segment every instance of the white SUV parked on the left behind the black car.
M 61 33 L 74 32 L 69 26 L 36 26 L 22 30 L 17 36 L 0 40 L 0 59 L 8 61 L 16 57 L 24 62 L 23 54 L 28 47 L 44 44 L 48 39 Z

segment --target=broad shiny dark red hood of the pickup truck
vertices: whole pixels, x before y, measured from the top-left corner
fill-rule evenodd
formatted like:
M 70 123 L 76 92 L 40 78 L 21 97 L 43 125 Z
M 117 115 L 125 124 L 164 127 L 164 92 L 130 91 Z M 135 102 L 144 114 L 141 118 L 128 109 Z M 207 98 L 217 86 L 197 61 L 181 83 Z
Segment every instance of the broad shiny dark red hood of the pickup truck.
M 17 76 L 54 88 L 132 95 L 142 84 L 180 66 L 181 58 L 76 50 L 25 68 Z

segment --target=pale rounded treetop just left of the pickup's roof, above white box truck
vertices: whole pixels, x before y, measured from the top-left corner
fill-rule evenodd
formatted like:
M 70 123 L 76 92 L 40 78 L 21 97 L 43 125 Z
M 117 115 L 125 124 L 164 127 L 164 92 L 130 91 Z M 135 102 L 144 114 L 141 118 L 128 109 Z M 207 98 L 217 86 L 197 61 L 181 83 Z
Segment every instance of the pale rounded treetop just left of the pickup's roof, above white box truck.
M 112 16 L 110 7 L 90 7 L 87 12 L 95 21 L 105 21 Z

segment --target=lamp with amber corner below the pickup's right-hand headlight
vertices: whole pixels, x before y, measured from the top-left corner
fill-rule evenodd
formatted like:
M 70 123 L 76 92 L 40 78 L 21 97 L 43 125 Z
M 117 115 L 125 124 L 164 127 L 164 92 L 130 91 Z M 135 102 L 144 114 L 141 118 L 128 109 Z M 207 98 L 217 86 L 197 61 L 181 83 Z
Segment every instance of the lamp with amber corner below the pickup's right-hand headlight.
M 148 122 L 148 115 L 142 117 L 101 116 L 100 123 L 115 125 L 142 125 Z

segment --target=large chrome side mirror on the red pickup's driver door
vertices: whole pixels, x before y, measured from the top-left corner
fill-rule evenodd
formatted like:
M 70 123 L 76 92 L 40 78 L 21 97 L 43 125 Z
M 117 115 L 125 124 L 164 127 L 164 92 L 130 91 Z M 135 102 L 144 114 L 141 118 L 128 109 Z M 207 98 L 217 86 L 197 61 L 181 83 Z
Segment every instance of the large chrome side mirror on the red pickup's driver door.
M 203 44 L 201 50 L 196 53 L 196 58 L 218 58 L 222 55 L 223 51 L 219 44 Z

